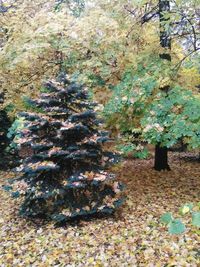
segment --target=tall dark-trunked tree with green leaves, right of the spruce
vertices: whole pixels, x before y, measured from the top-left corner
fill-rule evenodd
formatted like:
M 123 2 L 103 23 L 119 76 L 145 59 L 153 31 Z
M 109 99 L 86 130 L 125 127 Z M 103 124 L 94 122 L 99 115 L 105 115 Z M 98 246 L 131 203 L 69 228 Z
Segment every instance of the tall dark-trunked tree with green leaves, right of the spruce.
M 173 7 L 173 5 L 175 5 L 175 7 L 176 7 L 175 9 L 172 8 L 172 12 L 170 12 L 170 4 L 172 5 L 172 7 Z M 150 6 L 150 11 L 148 11 L 149 6 Z M 188 55 L 187 56 L 189 56 L 192 53 L 195 53 L 195 52 L 197 52 L 199 50 L 199 47 L 197 47 L 197 42 L 196 42 L 196 40 L 198 40 L 198 38 L 199 38 L 199 31 L 198 31 L 198 29 L 196 27 L 197 26 L 196 25 L 197 24 L 197 20 L 194 19 L 193 25 L 191 24 L 191 20 L 190 20 L 191 19 L 190 18 L 190 16 L 191 16 L 191 9 L 190 8 L 192 6 L 193 6 L 193 3 L 190 2 L 187 5 L 187 7 L 189 8 L 189 12 L 187 12 L 187 14 L 184 14 L 183 15 L 183 13 L 181 13 L 182 12 L 182 9 L 183 9 L 183 6 L 180 8 L 174 2 L 173 3 L 172 2 L 170 3 L 170 1 L 159 1 L 156 4 L 155 3 L 146 4 L 147 10 L 143 14 L 143 16 L 140 16 L 140 22 L 142 24 L 144 24 L 146 22 L 149 22 L 150 20 L 153 20 L 154 21 L 155 18 L 156 18 L 156 16 L 159 16 L 159 23 L 160 23 L 159 36 L 160 36 L 161 49 L 159 49 L 158 51 L 160 51 L 159 52 L 160 59 L 162 59 L 164 61 L 167 60 L 170 63 L 170 64 L 168 64 L 168 63 L 165 63 L 164 61 L 163 62 L 160 62 L 160 64 L 163 65 L 163 67 L 162 67 L 163 73 L 161 74 L 163 77 L 162 77 L 162 82 L 161 82 L 159 88 L 162 90 L 161 95 L 162 95 L 162 97 L 164 97 L 164 101 L 162 101 L 162 105 L 160 105 L 159 108 L 163 109 L 163 111 L 165 109 L 164 106 L 165 105 L 169 105 L 169 101 L 167 100 L 167 98 L 168 97 L 171 98 L 171 96 L 169 96 L 170 83 L 172 84 L 173 82 L 177 82 L 177 76 L 176 77 L 174 76 L 175 71 L 177 71 L 177 70 L 176 70 L 175 67 L 172 67 L 174 62 L 171 64 L 171 59 L 172 59 L 171 58 L 171 55 L 173 55 L 173 53 L 171 53 L 171 47 L 172 47 L 172 37 L 171 36 L 172 36 L 172 33 L 175 32 L 176 34 L 178 34 L 178 32 L 181 32 L 182 33 L 182 36 L 183 36 L 183 39 L 184 39 L 184 35 L 187 36 L 186 38 L 189 40 L 189 42 L 187 42 L 187 44 L 186 44 L 186 51 L 188 51 Z M 136 13 L 136 11 L 133 10 L 133 9 L 130 9 L 130 7 L 128 7 L 127 10 L 132 15 L 135 15 L 135 13 Z M 174 17 L 174 14 L 178 14 L 178 18 L 179 18 L 179 16 L 182 16 L 181 17 L 181 21 L 174 21 L 174 18 L 175 18 Z M 196 14 L 195 11 L 193 11 L 193 18 L 195 16 L 194 14 Z M 190 24 L 189 27 L 192 27 L 192 31 L 190 31 L 190 29 L 187 28 L 188 21 L 189 21 L 189 24 Z M 174 26 L 174 25 L 176 25 L 176 26 Z M 184 31 L 183 28 L 184 29 L 187 29 L 187 32 L 184 33 L 184 34 L 183 34 L 183 31 Z M 191 34 L 190 34 L 190 32 L 191 32 Z M 180 36 L 181 35 L 179 35 L 179 37 Z M 195 43 L 195 45 L 194 45 L 194 43 Z M 191 51 L 190 44 L 192 44 L 192 48 L 193 48 L 192 51 Z M 175 42 L 175 45 L 177 45 L 176 42 Z M 154 56 L 155 56 L 155 54 L 154 54 Z M 183 63 L 183 61 L 187 58 L 187 56 L 184 56 L 183 59 L 180 61 L 180 63 Z M 152 63 L 153 62 L 152 62 L 152 59 L 151 59 L 151 61 L 149 61 L 148 63 L 143 64 L 143 66 L 141 66 L 141 67 L 144 68 L 144 70 L 146 70 L 148 72 L 148 68 L 146 68 L 146 66 L 147 66 L 147 64 L 149 66 L 152 66 Z M 180 63 L 178 63 L 179 66 L 180 66 Z M 160 69 L 160 71 L 162 71 L 162 70 Z M 152 75 L 153 73 L 151 71 L 150 71 L 150 73 L 148 73 L 148 75 L 149 74 L 153 77 L 153 75 Z M 134 80 L 134 74 L 132 74 L 132 77 L 129 77 L 129 79 L 131 79 L 131 78 Z M 140 77 L 139 79 L 141 79 L 142 82 L 143 82 L 143 84 L 142 84 L 142 82 L 140 83 L 140 87 L 141 86 L 144 87 L 144 85 L 145 85 L 144 83 L 146 82 L 145 79 L 143 77 Z M 129 88 L 129 91 L 128 91 L 128 94 L 130 94 L 130 95 L 131 95 L 130 89 L 131 90 L 134 90 L 134 88 L 133 88 L 133 86 L 134 86 L 133 80 L 132 80 L 132 88 Z M 159 81 L 159 79 L 158 79 L 158 81 Z M 127 82 L 127 79 L 123 83 L 123 85 L 124 84 L 127 85 L 126 82 Z M 131 81 L 129 81 L 129 82 L 131 82 Z M 129 114 L 132 114 L 132 116 L 134 116 L 134 115 L 136 115 L 138 113 L 139 119 L 141 119 L 141 117 L 144 116 L 144 118 L 142 119 L 142 125 L 143 126 L 145 125 L 145 123 L 150 122 L 152 120 L 152 116 L 149 116 L 148 114 L 154 113 L 154 115 L 155 115 L 155 110 L 153 111 L 153 110 L 151 110 L 151 108 L 155 104 L 154 101 L 155 100 L 158 101 L 160 99 L 160 96 L 159 96 L 160 93 L 159 93 L 159 91 L 158 91 L 158 94 L 154 94 L 154 97 L 155 98 L 152 98 L 151 97 L 152 94 L 153 94 L 153 89 L 156 89 L 156 87 L 157 87 L 156 80 L 154 80 L 154 82 L 155 83 L 153 83 L 153 80 L 152 80 L 152 84 L 150 84 L 150 80 L 149 80 L 148 81 L 149 84 L 146 84 L 145 85 L 146 88 L 143 88 L 146 91 L 147 90 L 150 91 L 150 92 L 145 92 L 146 93 L 146 96 L 145 97 L 147 98 L 146 99 L 147 103 L 145 103 L 145 105 L 144 105 L 144 99 L 142 97 L 139 100 L 140 102 L 139 101 L 135 101 L 134 98 L 130 99 L 129 98 L 129 95 L 126 95 L 123 98 L 121 98 L 121 99 L 125 100 L 124 101 L 124 104 L 123 103 L 121 104 L 121 108 L 124 109 L 124 111 L 126 111 L 126 113 L 127 113 L 127 110 L 129 112 Z M 120 89 L 117 89 L 118 99 L 119 99 L 119 95 L 120 95 L 119 90 Z M 181 90 L 182 90 L 182 92 L 181 92 Z M 126 89 L 124 90 L 124 92 L 125 91 L 126 91 Z M 176 90 L 176 92 L 179 93 L 179 98 L 180 98 L 180 103 L 181 104 L 183 104 L 183 102 L 181 102 L 181 99 L 182 99 L 182 95 L 181 94 L 184 94 L 183 91 L 184 90 L 181 89 L 181 88 L 180 88 L 180 92 L 178 92 Z M 140 92 L 140 93 L 141 93 L 141 96 L 143 96 L 142 92 Z M 189 97 L 189 95 L 188 95 L 188 97 Z M 165 98 L 166 98 L 166 103 L 165 103 Z M 198 97 L 196 97 L 196 98 L 197 98 L 197 101 L 195 101 L 195 97 L 192 97 L 191 96 L 191 100 L 194 101 L 194 103 L 196 103 L 196 109 L 198 109 L 198 107 L 199 107 L 199 104 L 197 103 L 198 102 Z M 116 100 L 116 98 L 115 98 L 115 100 Z M 135 104 L 134 104 L 134 101 L 135 101 Z M 151 104 L 150 104 L 150 101 L 152 101 Z M 177 101 L 177 99 L 176 99 L 176 101 Z M 171 108 L 173 108 L 173 104 L 172 103 L 170 103 L 170 104 L 171 104 L 170 105 Z M 176 103 L 176 104 L 178 104 L 178 103 Z M 187 103 L 185 103 L 185 104 L 187 105 Z M 149 108 L 148 108 L 148 105 L 149 105 Z M 134 111 L 131 110 L 131 106 L 134 107 Z M 113 104 L 111 104 L 111 109 L 110 109 L 111 113 L 113 112 L 112 111 L 112 107 L 113 107 Z M 181 107 L 182 107 L 182 105 L 181 105 Z M 118 109 L 118 108 L 116 108 L 116 109 Z M 139 112 L 137 112 L 138 109 L 139 109 Z M 145 109 L 146 109 L 146 111 L 148 111 L 148 113 L 145 111 Z M 129 114 L 124 113 L 122 110 L 120 111 L 120 108 L 119 108 L 119 110 L 117 110 L 118 116 L 119 116 L 119 113 L 120 112 L 122 114 L 129 115 Z M 161 111 L 159 111 L 159 113 L 158 113 L 158 109 L 156 110 L 156 112 L 157 112 L 157 114 L 162 113 Z M 180 113 L 179 113 L 179 115 L 180 115 Z M 167 117 L 170 116 L 170 110 L 168 110 L 168 112 L 166 112 L 166 110 L 165 110 L 164 111 L 164 114 L 166 116 L 165 121 L 167 122 L 167 119 L 168 119 Z M 184 115 L 186 115 L 186 114 L 184 114 Z M 145 119 L 146 116 L 148 116 L 149 119 L 148 118 Z M 170 168 L 169 168 L 168 159 L 167 159 L 167 147 L 164 145 L 164 142 L 160 142 L 160 141 L 162 141 L 162 139 L 163 139 L 162 136 L 164 136 L 164 135 L 168 136 L 169 139 L 170 139 L 171 136 L 168 133 L 168 127 L 166 127 L 166 126 L 169 126 L 169 125 L 167 125 L 167 123 L 165 123 L 165 121 L 162 121 L 162 124 L 160 124 L 161 120 L 159 119 L 159 116 L 157 117 L 157 120 L 154 119 L 154 121 L 156 121 L 154 125 L 152 123 L 151 124 L 149 123 L 149 125 L 146 125 L 146 128 L 144 129 L 145 132 L 143 132 L 143 137 L 146 137 L 147 136 L 146 132 L 148 132 L 150 129 L 154 129 L 155 132 L 156 131 L 157 132 L 160 132 L 159 133 L 160 137 L 157 136 L 158 138 L 156 138 L 155 136 L 153 136 L 153 134 L 151 132 L 151 135 L 152 136 L 150 138 L 147 138 L 146 140 L 148 140 L 148 141 L 150 141 L 150 143 L 153 143 L 153 144 L 156 145 L 156 150 L 155 150 L 155 166 L 154 166 L 155 169 L 156 170 L 164 170 L 164 169 L 170 169 Z M 194 122 L 194 124 L 197 123 L 198 126 L 194 130 L 193 134 L 191 132 L 188 133 L 187 130 L 185 130 L 185 131 L 182 131 L 182 135 L 177 135 L 176 136 L 174 134 L 174 136 L 172 137 L 172 139 L 174 139 L 176 141 L 178 141 L 178 138 L 185 138 L 186 139 L 186 136 L 188 134 L 189 134 L 189 136 L 194 135 L 194 136 L 198 137 L 199 131 L 200 131 L 200 127 L 199 127 L 199 116 L 194 116 L 194 117 L 195 117 L 195 120 L 193 122 Z M 194 117 L 192 119 L 194 119 Z M 183 120 L 183 118 L 182 118 L 182 120 Z M 127 118 L 124 118 L 124 125 L 125 125 L 126 122 L 127 122 Z M 186 123 L 185 125 L 184 125 L 184 122 Z M 184 122 L 182 124 L 182 127 L 185 127 L 185 129 L 186 129 L 188 123 L 187 123 L 187 121 L 184 121 Z M 195 127 L 193 127 L 193 129 L 194 128 Z M 131 130 L 134 131 L 134 125 L 132 126 L 132 124 L 131 124 L 131 128 L 129 128 L 129 129 L 131 129 Z M 197 139 L 196 139 L 196 141 L 197 141 Z M 167 142 L 165 142 L 165 144 L 166 143 Z M 173 142 L 171 140 L 171 143 L 174 144 L 175 142 Z M 171 146 L 169 142 L 167 143 L 167 146 L 168 147 Z M 198 147 L 198 146 L 199 146 L 199 142 L 197 141 L 195 147 Z

